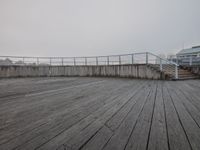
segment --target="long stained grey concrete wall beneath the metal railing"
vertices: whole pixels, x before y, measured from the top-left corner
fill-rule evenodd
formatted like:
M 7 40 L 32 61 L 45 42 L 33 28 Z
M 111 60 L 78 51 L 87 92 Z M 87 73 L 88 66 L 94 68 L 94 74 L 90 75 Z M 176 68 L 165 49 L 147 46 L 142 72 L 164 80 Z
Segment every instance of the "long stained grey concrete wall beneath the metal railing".
M 164 79 L 147 65 L 110 66 L 0 66 L 0 77 L 105 76 Z

